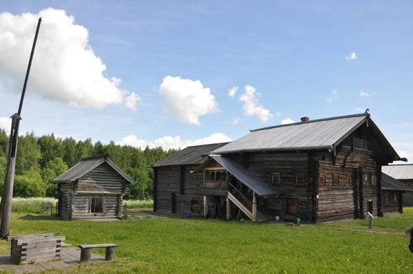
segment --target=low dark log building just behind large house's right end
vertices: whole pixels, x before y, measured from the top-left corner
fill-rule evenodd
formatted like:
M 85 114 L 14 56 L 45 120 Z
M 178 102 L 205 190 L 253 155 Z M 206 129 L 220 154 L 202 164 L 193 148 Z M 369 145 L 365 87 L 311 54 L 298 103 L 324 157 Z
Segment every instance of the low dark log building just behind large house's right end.
M 403 213 L 403 194 L 413 191 L 403 182 L 381 173 L 381 204 L 385 213 Z

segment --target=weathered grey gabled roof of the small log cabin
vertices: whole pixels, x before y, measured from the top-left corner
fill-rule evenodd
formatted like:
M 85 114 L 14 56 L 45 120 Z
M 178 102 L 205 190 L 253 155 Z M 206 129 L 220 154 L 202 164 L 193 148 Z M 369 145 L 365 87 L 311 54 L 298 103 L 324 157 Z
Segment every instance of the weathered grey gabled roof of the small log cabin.
M 125 178 L 127 182 L 131 184 L 135 184 L 134 180 L 132 180 L 129 176 L 127 176 L 125 172 L 123 172 L 111 160 L 109 160 L 109 158 L 107 158 L 107 154 L 83 158 L 80 162 L 78 162 L 76 165 L 71 167 L 61 176 L 59 176 L 58 178 L 50 182 L 52 184 L 56 184 L 59 182 L 63 182 L 63 183 L 73 182 L 75 180 L 78 180 L 78 178 L 81 178 L 82 176 L 84 176 L 87 172 L 92 171 L 92 169 L 95 169 L 99 165 L 103 164 L 103 162 L 107 162 L 107 164 L 111 166 L 113 169 L 115 169 L 115 171 L 118 172 L 120 176 Z

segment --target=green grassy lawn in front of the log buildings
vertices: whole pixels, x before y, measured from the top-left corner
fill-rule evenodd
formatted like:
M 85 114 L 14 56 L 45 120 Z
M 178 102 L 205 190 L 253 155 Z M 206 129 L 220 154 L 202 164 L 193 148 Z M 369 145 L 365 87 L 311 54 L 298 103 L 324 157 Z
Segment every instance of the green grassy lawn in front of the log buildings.
M 401 234 L 412 223 L 410 207 L 374 219 L 370 231 Z M 368 220 L 301 226 L 180 218 L 65 222 L 14 213 L 10 235 L 54 233 L 75 246 L 119 245 L 113 262 L 56 273 L 413 273 L 407 236 L 337 228 L 369 230 Z M 10 252 L 9 243 L 0 243 L 1 253 Z

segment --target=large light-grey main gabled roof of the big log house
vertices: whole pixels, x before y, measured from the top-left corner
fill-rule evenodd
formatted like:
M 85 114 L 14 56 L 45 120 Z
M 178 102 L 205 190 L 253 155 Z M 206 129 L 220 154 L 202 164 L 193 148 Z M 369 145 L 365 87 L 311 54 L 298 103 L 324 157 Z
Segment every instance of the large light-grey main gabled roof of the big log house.
M 251 130 L 251 133 L 212 151 L 233 154 L 254 151 L 334 150 L 352 132 L 367 123 L 386 154 L 402 160 L 367 112 Z

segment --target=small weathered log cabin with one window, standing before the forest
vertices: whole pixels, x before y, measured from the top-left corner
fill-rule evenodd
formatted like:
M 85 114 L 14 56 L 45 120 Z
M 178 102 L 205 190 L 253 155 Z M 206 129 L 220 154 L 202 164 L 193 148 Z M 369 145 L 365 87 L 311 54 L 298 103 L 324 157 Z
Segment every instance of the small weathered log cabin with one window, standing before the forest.
M 122 218 L 127 184 L 135 182 L 107 158 L 83 158 L 51 181 L 58 184 L 58 215 L 63 220 Z

